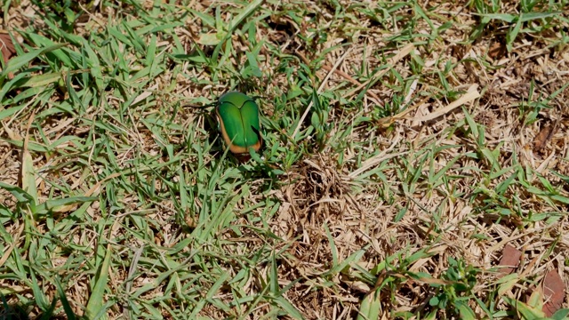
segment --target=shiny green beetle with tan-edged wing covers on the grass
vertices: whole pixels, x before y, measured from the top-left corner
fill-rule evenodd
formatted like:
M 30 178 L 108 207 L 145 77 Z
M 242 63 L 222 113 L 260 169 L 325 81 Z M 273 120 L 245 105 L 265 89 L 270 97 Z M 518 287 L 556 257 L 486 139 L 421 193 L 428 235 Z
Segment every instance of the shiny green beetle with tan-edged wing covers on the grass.
M 260 111 L 254 100 L 241 92 L 227 92 L 218 100 L 215 113 L 218 128 L 229 151 L 238 157 L 249 156 L 249 149 L 259 151 Z

